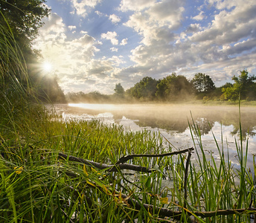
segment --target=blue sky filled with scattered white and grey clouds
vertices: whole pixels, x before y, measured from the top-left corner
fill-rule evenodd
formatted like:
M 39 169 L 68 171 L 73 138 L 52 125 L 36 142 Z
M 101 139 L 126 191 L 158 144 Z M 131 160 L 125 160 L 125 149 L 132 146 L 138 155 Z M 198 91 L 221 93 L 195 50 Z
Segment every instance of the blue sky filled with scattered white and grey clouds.
M 48 0 L 34 48 L 65 93 L 114 93 L 143 77 L 256 74 L 254 0 Z

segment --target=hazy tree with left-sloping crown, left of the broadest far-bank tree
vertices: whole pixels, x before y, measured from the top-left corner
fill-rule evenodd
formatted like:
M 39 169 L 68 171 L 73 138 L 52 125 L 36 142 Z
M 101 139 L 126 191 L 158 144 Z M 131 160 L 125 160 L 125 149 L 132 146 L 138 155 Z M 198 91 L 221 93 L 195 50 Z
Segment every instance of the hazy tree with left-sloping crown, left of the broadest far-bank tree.
M 158 81 L 152 77 L 144 77 L 139 83 L 127 90 L 127 94 L 141 100 L 153 100 L 156 97 Z

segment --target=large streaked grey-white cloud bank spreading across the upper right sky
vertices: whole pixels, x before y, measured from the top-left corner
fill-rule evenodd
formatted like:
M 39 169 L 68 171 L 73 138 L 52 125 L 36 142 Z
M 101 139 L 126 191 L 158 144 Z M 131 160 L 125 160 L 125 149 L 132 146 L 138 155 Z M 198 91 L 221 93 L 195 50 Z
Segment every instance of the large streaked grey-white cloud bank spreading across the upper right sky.
M 196 72 L 215 71 L 212 72 L 215 74 L 212 78 L 214 81 L 220 81 L 230 78 L 232 72 L 234 75 L 234 71 L 255 68 L 253 59 L 256 53 L 243 55 L 252 49 L 255 51 L 255 4 L 242 5 L 243 1 L 236 1 L 232 7 L 235 5 L 237 7 L 232 8 L 231 1 L 229 1 L 230 4 L 226 2 L 225 7 L 230 11 L 215 11 L 214 19 L 208 27 L 202 28 L 199 23 L 191 24 L 178 36 L 172 30 L 178 28 L 182 21 L 183 7 L 174 4 L 176 10 L 173 12 L 178 10 L 180 16 L 172 20 L 170 15 L 165 16 L 164 12 L 160 13 L 160 8 L 164 8 L 160 7 L 163 3 L 167 4 L 166 1 L 161 1 L 144 12 L 133 13 L 129 17 L 125 25 L 133 28 L 143 39 L 141 45 L 133 49 L 130 56 L 135 65 L 124 69 L 123 73 L 132 71 L 138 76 L 145 76 L 167 74 L 168 71 L 169 74 L 172 71 L 181 71 L 181 74 L 185 75 L 191 75 L 191 72 L 196 74 Z M 202 13 L 202 8 L 200 10 L 201 17 L 197 16 L 193 19 L 201 21 L 205 14 Z M 240 39 L 247 40 L 239 42 Z M 237 54 L 242 55 L 237 56 Z M 232 59 L 231 55 L 236 56 Z M 147 72 L 144 68 L 147 68 Z M 221 71 L 217 73 L 217 70 Z

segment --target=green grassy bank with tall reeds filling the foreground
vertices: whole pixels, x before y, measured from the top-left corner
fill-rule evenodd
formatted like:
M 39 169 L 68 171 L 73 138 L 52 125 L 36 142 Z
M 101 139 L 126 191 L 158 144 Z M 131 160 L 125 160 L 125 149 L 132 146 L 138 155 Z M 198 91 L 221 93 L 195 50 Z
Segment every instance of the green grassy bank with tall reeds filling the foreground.
M 22 123 L 31 123 L 23 118 Z M 129 161 L 153 172 L 108 172 L 58 158 L 62 152 L 115 164 L 124 155 L 176 151 L 158 134 L 127 132 L 98 121 L 63 123 L 46 114 L 23 128 L 11 135 L 1 131 L 1 222 L 167 222 L 173 218 L 189 222 L 191 215 L 199 222 L 249 222 L 255 213 L 246 210 L 255 207 L 255 169 L 246 169 L 248 147 L 237 141 L 238 171 L 224 157 L 225 143 L 216 144 L 218 163 L 206 159 L 200 131 L 193 123 L 191 140 L 196 150 L 192 156 L 197 162 L 188 163 L 187 176 L 186 154 Z M 137 206 L 132 207 L 128 198 Z M 153 206 L 147 210 L 143 204 Z M 180 213 L 164 217 L 157 208 Z M 218 210 L 234 208 L 244 210 L 217 216 Z M 213 216 L 202 218 L 201 212 Z

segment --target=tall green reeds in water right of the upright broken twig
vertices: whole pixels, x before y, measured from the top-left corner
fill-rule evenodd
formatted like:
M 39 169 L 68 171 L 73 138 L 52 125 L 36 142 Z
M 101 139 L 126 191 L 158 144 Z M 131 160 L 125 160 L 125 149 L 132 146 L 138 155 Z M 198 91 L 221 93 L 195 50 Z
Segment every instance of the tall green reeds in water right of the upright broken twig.
M 197 148 L 197 163 L 191 164 L 189 175 L 188 204 L 191 210 L 196 211 L 216 211 L 232 210 L 252 207 L 252 201 L 255 202 L 255 176 L 252 175 L 246 165 L 248 156 L 248 140 L 246 146 L 243 146 L 243 135 L 240 133 L 240 144 L 237 143 L 237 155 L 240 169 L 234 169 L 229 161 L 229 155 L 225 156 L 223 137 L 221 144 L 213 134 L 219 151 L 220 159 L 216 161 L 211 154 L 206 158 L 200 129 L 196 123 L 190 125 L 193 144 Z M 240 132 L 241 125 L 240 125 Z M 237 181 L 239 182 L 237 184 Z M 255 204 L 254 204 L 255 205 Z M 240 215 L 214 216 L 207 218 L 205 222 L 250 222 L 249 213 Z

